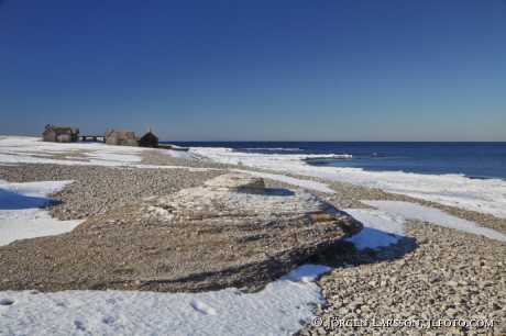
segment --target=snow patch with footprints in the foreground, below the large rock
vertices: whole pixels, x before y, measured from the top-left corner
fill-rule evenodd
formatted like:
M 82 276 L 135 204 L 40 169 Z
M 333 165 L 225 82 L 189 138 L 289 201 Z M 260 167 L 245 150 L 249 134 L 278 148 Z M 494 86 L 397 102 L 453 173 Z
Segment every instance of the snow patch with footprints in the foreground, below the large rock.
M 8 335 L 287 335 L 322 303 L 312 279 L 327 267 L 298 268 L 253 294 L 139 291 L 0 292 L 0 333 Z M 6 305 L 11 303 L 11 305 Z

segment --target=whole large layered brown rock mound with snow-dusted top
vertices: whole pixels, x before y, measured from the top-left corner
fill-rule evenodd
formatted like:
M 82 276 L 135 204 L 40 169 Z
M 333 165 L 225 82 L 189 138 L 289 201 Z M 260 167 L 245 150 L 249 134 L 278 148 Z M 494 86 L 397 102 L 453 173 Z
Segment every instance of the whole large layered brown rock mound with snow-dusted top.
M 310 192 L 229 173 L 2 247 L 0 273 L 13 271 L 0 289 L 254 291 L 362 227 Z

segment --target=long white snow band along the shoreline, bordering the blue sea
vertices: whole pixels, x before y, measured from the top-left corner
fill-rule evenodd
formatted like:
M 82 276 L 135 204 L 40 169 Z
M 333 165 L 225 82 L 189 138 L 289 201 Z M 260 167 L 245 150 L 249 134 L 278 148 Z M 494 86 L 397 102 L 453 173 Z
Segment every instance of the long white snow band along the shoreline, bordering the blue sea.
M 190 148 L 190 152 L 218 163 L 241 161 L 249 167 L 334 179 L 506 219 L 506 181 L 498 179 L 469 179 L 462 175 L 364 171 L 361 168 L 317 167 L 304 161 L 308 157 L 328 155 L 266 155 L 207 147 Z

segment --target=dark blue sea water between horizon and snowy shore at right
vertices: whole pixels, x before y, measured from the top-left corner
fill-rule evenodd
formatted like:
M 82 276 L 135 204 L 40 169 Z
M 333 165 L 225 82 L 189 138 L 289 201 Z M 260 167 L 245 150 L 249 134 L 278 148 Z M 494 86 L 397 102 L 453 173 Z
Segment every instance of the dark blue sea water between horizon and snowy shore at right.
M 435 142 L 176 142 L 184 147 L 227 147 L 267 155 L 348 154 L 308 160 L 309 165 L 506 180 L 506 143 Z

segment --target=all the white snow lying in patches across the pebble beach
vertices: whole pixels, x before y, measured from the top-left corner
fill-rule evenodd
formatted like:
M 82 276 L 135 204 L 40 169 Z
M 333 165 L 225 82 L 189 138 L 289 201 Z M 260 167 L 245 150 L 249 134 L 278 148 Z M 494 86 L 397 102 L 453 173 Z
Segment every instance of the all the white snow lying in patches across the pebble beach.
M 84 148 L 89 150 L 86 155 L 92 157 L 92 163 L 84 163 L 80 157 L 76 156 L 75 160 L 61 160 L 58 164 L 136 167 L 140 160 L 136 154 L 140 150 L 150 150 L 103 146 L 97 143 L 48 144 L 37 143 L 35 138 L 7 137 L 0 139 L 0 169 L 1 165 L 19 163 L 55 164 L 55 160 L 50 160 L 44 156 Z M 229 154 L 227 150 L 220 152 L 212 148 L 193 150 L 197 152 L 197 155 L 210 157 L 217 161 L 235 164 L 241 160 L 246 166 L 341 179 L 415 197 L 422 194 L 425 195 L 422 198 L 436 202 L 506 216 L 504 203 L 506 183 L 499 180 L 469 180 L 460 176 L 424 176 L 402 172 L 373 173 L 350 168 L 311 167 L 305 165 L 296 156 L 264 158 L 261 155 Z M 331 191 L 322 183 L 287 178 L 282 175 L 264 175 L 264 177 L 323 192 Z M 68 182 L 70 181 L 32 183 L 0 181 L 0 245 L 20 238 L 59 234 L 78 225 L 79 222 L 76 221 L 52 220 L 44 210 L 37 208 L 50 202 L 47 194 L 65 187 Z M 426 187 L 422 188 L 422 186 Z M 407 219 L 429 221 L 506 242 L 504 235 L 494 231 L 477 227 L 475 223 L 419 204 L 389 201 L 366 202 L 380 210 L 348 210 L 365 225 L 361 234 L 350 239 L 360 249 L 395 244 L 405 234 Z M 477 206 L 475 202 L 480 202 L 482 206 Z M 0 334 L 286 335 L 288 331 L 300 328 L 299 320 L 310 320 L 311 310 L 308 303 L 321 302 L 320 289 L 312 281 L 318 275 L 327 271 L 329 269 L 322 266 L 302 266 L 254 294 L 243 294 L 238 289 L 198 294 L 125 291 L 65 291 L 58 293 L 6 291 L 0 292 L 0 325 L 2 326 Z

